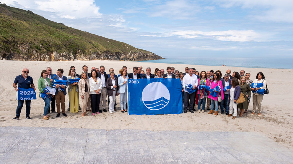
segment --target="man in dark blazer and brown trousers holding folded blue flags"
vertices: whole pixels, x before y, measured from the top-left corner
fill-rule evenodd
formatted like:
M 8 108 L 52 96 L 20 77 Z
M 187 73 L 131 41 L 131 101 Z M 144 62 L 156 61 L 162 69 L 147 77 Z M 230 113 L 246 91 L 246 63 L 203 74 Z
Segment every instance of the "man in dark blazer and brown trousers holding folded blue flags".
M 63 69 L 58 69 L 57 70 L 57 76 L 53 77 L 53 81 L 56 80 L 67 80 L 66 76 L 63 76 Z M 64 91 L 62 91 L 60 88 L 63 88 Z M 62 110 L 62 115 L 67 117 L 65 113 L 65 95 L 66 95 L 66 88 L 62 84 L 61 86 L 59 84 L 56 85 L 56 93 L 55 93 L 55 99 L 56 99 L 56 106 L 57 106 L 57 116 L 60 117 L 60 103 L 61 103 L 61 110 Z

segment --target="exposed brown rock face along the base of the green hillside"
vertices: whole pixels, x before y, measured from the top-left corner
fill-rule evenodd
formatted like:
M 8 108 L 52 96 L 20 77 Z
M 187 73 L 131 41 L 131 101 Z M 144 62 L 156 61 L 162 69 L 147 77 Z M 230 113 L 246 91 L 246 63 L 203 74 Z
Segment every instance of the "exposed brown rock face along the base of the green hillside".
M 157 56 L 154 53 L 143 53 L 139 50 L 137 52 L 130 51 L 128 54 L 123 54 L 120 52 L 110 52 L 104 51 L 92 52 L 86 55 L 81 52 L 77 52 L 73 55 L 69 52 L 58 53 L 54 52 L 37 52 L 30 46 L 30 43 L 17 44 L 21 53 L 15 52 L 1 52 L 0 60 L 27 60 L 27 61 L 73 61 L 78 60 L 128 60 L 128 61 L 142 61 L 142 60 L 157 60 L 163 59 L 161 56 Z M 40 48 L 42 45 L 40 45 Z

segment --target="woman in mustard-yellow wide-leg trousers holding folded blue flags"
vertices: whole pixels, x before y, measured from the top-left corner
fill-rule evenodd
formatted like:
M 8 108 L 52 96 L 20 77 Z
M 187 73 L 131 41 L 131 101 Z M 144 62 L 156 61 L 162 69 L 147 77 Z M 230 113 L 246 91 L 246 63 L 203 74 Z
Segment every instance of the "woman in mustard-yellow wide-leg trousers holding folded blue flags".
M 69 79 L 74 79 L 74 78 L 78 78 L 77 76 L 75 76 L 75 70 L 70 69 L 67 76 L 67 81 L 69 82 Z M 79 108 L 78 95 L 79 95 L 78 82 L 68 84 L 70 113 L 78 113 L 78 108 Z

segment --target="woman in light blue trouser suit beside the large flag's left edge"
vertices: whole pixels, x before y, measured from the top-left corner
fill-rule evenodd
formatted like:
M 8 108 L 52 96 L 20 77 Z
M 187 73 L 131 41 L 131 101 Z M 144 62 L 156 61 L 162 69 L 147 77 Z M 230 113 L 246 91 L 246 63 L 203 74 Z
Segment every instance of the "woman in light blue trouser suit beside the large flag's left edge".
M 121 112 L 127 112 L 126 109 L 126 102 L 127 102 L 127 79 L 128 76 L 126 75 L 126 70 L 123 69 L 121 76 L 118 78 L 118 86 L 119 93 L 120 93 L 120 106 L 121 106 Z

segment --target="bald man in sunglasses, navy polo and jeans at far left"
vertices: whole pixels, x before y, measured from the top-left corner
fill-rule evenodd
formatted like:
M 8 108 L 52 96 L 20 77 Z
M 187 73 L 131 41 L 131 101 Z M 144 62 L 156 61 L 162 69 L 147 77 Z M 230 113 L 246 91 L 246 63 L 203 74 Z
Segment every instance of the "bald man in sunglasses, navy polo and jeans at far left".
M 18 85 L 19 88 L 24 88 L 24 89 L 33 88 L 34 90 L 36 90 L 35 85 L 32 81 L 32 77 L 28 76 L 28 73 L 29 73 L 29 70 L 27 68 L 23 68 L 22 74 L 15 77 L 15 80 L 13 82 L 13 87 L 15 88 L 15 91 L 18 91 L 16 84 Z M 30 101 L 31 100 L 25 100 L 25 106 L 26 106 L 25 116 L 27 119 L 32 119 L 30 118 Z M 13 119 L 18 120 L 24 100 L 17 100 L 17 103 L 18 105 L 16 108 L 16 117 L 14 117 Z

